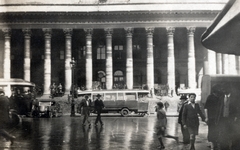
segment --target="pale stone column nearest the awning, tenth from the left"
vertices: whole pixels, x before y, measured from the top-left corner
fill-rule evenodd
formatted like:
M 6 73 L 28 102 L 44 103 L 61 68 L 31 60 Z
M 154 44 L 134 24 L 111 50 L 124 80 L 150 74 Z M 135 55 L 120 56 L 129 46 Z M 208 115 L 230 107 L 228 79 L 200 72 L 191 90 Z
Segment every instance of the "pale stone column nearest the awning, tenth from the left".
M 196 88 L 196 62 L 195 62 L 195 47 L 194 47 L 194 27 L 187 28 L 188 30 L 188 87 Z

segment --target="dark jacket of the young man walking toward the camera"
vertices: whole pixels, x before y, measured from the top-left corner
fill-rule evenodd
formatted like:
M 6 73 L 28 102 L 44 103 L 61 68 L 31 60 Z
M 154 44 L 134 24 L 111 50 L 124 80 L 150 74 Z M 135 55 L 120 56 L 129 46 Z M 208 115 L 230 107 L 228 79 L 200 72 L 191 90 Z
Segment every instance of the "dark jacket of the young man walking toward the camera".
M 190 128 L 198 128 L 199 126 L 199 119 L 198 114 L 202 118 L 202 120 L 205 120 L 205 116 L 203 115 L 199 104 L 195 104 L 195 108 L 193 108 L 192 104 L 186 104 L 183 108 L 183 114 L 182 114 L 182 123 L 183 125 L 187 125 L 187 127 Z

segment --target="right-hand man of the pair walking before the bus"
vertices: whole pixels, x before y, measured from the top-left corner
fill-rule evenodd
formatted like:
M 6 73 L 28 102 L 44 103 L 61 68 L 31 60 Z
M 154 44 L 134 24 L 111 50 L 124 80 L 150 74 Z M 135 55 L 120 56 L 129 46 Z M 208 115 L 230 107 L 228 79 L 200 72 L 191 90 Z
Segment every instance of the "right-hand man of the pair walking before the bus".
M 103 122 L 101 120 L 101 113 L 102 113 L 102 109 L 104 108 L 104 104 L 103 104 L 103 101 L 100 98 L 101 98 L 101 95 L 98 94 L 97 99 L 95 100 L 95 103 L 94 103 L 95 111 L 97 113 L 95 126 L 97 126 L 98 121 L 100 122 L 101 126 L 103 126 Z

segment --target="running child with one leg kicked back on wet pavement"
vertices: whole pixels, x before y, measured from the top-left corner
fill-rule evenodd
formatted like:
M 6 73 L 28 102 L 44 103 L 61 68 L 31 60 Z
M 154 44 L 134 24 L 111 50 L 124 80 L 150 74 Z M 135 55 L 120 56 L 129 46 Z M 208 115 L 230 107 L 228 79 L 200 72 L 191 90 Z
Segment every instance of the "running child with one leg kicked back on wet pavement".
M 163 103 L 158 102 L 155 110 L 157 112 L 157 121 L 156 121 L 155 127 L 157 130 L 157 137 L 160 143 L 158 148 L 161 148 L 161 149 L 165 148 L 162 140 L 163 137 L 172 138 L 178 142 L 178 137 L 165 134 L 166 126 L 167 126 L 167 116 L 163 107 L 164 107 Z

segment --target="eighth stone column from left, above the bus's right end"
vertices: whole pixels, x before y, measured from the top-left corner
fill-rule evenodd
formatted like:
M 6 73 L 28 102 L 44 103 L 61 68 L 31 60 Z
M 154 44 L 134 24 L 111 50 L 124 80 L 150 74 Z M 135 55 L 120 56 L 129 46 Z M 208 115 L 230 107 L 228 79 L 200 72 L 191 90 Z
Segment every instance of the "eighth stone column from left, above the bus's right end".
M 154 88 L 153 32 L 154 28 L 145 28 L 147 34 L 147 86 Z M 154 92 L 154 90 L 152 90 Z

